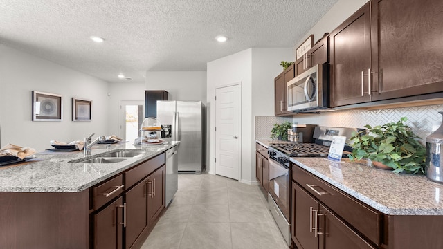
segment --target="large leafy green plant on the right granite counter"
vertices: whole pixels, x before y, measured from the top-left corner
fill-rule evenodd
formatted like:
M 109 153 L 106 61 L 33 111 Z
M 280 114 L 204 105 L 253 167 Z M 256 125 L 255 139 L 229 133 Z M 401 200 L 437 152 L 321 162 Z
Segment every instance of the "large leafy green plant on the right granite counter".
M 350 138 L 352 145 L 351 160 L 369 158 L 392 167 L 395 173 L 424 173 L 426 169 L 426 148 L 420 144 L 417 135 L 411 131 L 404 122 L 406 117 L 399 122 L 377 125 L 365 131 L 353 133 Z

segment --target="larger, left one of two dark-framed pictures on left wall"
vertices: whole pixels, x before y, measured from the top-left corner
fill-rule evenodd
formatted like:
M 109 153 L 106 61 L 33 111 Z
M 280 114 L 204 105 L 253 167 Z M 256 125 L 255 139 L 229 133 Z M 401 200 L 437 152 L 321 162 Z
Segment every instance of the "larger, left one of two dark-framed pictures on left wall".
M 33 121 L 62 121 L 62 95 L 33 91 Z

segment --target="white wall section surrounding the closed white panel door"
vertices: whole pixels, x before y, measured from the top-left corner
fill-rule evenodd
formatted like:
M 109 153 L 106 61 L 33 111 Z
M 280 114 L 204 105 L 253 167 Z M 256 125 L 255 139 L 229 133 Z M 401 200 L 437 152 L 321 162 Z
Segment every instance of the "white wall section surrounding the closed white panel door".
M 206 171 L 210 174 L 215 174 L 215 89 L 218 86 L 224 86 L 240 82 L 241 96 L 242 96 L 242 175 L 240 178 L 245 181 L 251 181 L 250 167 L 244 167 L 244 165 L 251 164 L 251 158 L 248 151 L 251 151 L 249 146 L 251 141 L 251 134 L 249 131 L 252 127 L 251 122 L 251 53 L 252 49 L 243 50 L 239 53 L 217 59 L 213 62 L 208 62 L 208 88 L 207 88 L 207 104 L 206 114 L 208 116 L 207 123 L 207 149 L 206 154 L 208 157 L 208 164 Z M 243 115 L 245 114 L 245 115 Z

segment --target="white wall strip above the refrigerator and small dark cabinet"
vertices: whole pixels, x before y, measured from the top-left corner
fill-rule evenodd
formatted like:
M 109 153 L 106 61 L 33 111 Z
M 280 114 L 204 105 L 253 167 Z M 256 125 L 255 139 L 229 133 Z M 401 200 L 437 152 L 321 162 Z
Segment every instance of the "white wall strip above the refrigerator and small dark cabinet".
M 206 71 L 147 71 L 145 89 L 168 91 L 169 100 L 201 100 L 206 104 Z

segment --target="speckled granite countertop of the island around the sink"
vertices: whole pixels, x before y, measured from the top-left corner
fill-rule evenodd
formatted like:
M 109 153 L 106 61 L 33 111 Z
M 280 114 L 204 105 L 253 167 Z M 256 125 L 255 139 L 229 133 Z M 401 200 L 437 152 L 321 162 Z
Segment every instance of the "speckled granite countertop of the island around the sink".
M 15 167 L 0 167 L 0 192 L 81 192 L 101 181 L 115 176 L 138 163 L 177 146 L 179 142 L 161 145 L 129 145 L 127 143 L 96 145 L 91 150 L 93 158 L 109 151 L 145 151 L 142 156 L 128 158 L 118 163 L 69 163 L 84 158 L 83 151 L 37 153 L 37 161 Z

